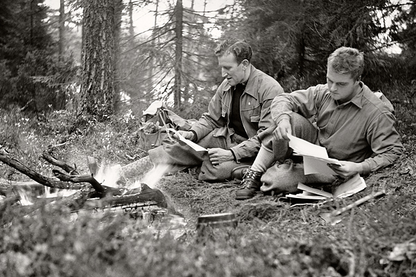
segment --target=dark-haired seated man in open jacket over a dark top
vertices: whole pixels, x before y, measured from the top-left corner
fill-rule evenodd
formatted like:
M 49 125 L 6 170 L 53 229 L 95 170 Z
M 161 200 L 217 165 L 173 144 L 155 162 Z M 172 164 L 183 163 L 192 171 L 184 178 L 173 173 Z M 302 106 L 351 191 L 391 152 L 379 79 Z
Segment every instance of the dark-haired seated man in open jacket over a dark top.
M 179 142 L 148 151 L 153 164 L 171 165 L 171 172 L 201 166 L 198 179 L 205 181 L 230 179 L 234 168 L 254 161 L 261 145 L 257 135 L 272 125 L 270 104 L 284 92 L 275 79 L 250 64 L 247 42 L 227 39 L 215 54 L 225 80 L 198 122 L 178 131 L 209 151 L 196 152 Z

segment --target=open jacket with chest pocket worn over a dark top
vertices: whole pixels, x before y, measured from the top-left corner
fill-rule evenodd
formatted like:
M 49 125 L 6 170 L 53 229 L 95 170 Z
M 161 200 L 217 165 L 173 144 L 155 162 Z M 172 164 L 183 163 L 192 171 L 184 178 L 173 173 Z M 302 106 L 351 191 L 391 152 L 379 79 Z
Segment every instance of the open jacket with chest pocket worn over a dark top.
M 237 161 L 255 157 L 259 152 L 261 143 L 257 134 L 272 125 L 270 104 L 280 93 L 284 93 L 284 90 L 277 80 L 250 64 L 250 76 L 240 98 L 241 121 L 249 139 L 230 148 Z M 194 123 L 190 130 L 196 133 L 198 139 L 207 136 L 213 130 L 214 136 L 234 134 L 228 126 L 231 105 L 232 87 L 225 79 L 209 102 L 208 111 L 202 114 L 198 123 Z

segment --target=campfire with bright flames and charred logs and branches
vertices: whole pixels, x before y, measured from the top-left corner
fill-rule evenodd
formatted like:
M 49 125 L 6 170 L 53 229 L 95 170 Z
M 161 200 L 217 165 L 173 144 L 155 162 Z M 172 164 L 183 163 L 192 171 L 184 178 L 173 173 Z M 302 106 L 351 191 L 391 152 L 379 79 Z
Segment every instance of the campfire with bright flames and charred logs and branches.
M 54 177 L 46 177 L 12 157 L 4 148 L 0 150 L 0 161 L 33 179 L 28 182 L 0 180 L 1 193 L 6 196 L 4 203 L 19 195 L 19 204 L 31 205 L 37 199 L 48 198 L 62 202 L 71 211 L 80 209 L 122 208 L 134 211 L 138 208 L 154 206 L 160 209 L 168 208 L 164 194 L 155 187 L 167 168 L 153 168 L 142 181 L 132 181 L 138 172 L 144 173 L 146 166 L 137 162 L 125 168 L 121 166 L 98 166 L 96 159 L 87 157 L 89 174 L 81 175 L 76 167 L 58 161 L 53 157 L 53 147 L 42 153 L 43 159 L 57 169 L 53 169 Z M 143 168 L 144 167 L 144 168 Z M 30 191 L 36 190 L 37 197 L 30 197 Z M 39 190 L 43 190 L 40 195 Z M 51 193 L 51 189 L 54 193 Z M 6 201 L 9 200 L 9 201 Z

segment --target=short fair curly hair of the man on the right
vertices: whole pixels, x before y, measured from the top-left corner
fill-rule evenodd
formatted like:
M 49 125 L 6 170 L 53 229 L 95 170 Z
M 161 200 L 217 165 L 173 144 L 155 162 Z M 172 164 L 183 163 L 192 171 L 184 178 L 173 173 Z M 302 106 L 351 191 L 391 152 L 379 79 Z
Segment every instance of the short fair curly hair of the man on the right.
M 339 74 L 351 74 L 358 80 L 364 70 L 364 53 L 356 48 L 340 47 L 328 57 L 328 67 Z

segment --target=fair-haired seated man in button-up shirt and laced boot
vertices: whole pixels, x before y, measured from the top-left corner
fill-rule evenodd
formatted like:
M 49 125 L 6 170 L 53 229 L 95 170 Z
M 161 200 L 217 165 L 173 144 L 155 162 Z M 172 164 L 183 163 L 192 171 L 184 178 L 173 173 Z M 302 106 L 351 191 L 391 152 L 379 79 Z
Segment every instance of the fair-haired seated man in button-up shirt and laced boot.
M 261 187 L 261 176 L 275 161 L 291 154 L 292 134 L 327 149 L 341 166 L 329 165 L 342 178 L 388 166 L 403 152 L 395 116 L 361 82 L 363 53 L 336 49 L 328 59 L 327 84 L 277 96 L 271 106 L 275 125 L 259 135 L 261 149 L 243 178 L 236 199 L 248 199 Z M 313 126 L 306 118 L 316 116 Z

